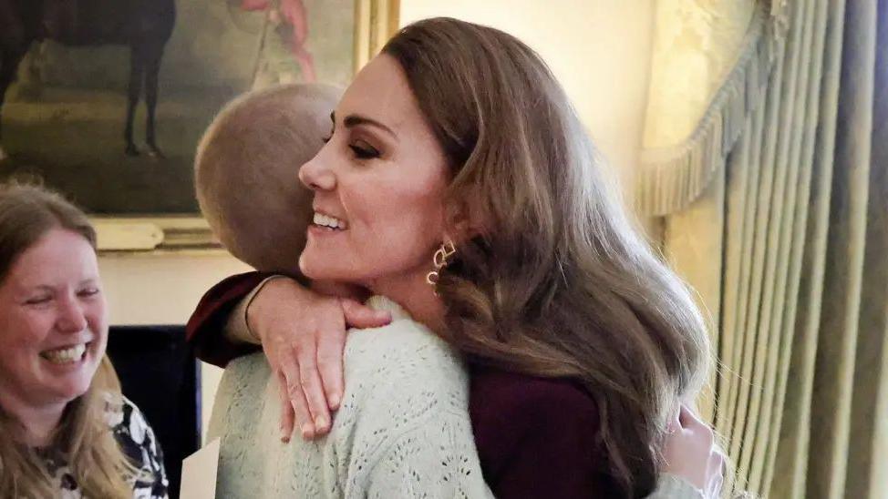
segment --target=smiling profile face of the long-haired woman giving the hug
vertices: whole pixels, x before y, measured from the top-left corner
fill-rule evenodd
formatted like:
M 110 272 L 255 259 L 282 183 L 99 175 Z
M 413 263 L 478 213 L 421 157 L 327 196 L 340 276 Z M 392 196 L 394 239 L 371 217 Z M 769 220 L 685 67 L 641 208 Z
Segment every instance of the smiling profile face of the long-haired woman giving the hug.
M 394 58 L 377 56 L 356 76 L 332 129 L 299 172 L 315 191 L 301 270 L 371 289 L 424 278 L 443 239 L 448 167 Z

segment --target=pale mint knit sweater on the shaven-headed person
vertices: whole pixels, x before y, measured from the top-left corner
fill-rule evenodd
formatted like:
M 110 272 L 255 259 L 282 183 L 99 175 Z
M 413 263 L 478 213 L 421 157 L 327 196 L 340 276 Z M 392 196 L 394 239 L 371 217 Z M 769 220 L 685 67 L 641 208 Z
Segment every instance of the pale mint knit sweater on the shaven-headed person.
M 459 355 L 391 300 L 385 327 L 349 332 L 346 392 L 324 438 L 282 443 L 277 381 L 263 353 L 228 364 L 208 436 L 222 438 L 217 497 L 492 497 L 469 418 Z M 697 498 L 676 477 L 652 497 Z

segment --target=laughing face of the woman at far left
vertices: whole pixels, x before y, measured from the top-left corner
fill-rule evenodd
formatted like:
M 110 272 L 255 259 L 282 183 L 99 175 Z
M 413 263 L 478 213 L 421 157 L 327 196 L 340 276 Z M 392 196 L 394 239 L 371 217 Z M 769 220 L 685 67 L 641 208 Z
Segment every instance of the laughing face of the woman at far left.
M 49 230 L 0 283 L 0 393 L 70 402 L 87 392 L 107 340 L 96 252 L 76 232 Z

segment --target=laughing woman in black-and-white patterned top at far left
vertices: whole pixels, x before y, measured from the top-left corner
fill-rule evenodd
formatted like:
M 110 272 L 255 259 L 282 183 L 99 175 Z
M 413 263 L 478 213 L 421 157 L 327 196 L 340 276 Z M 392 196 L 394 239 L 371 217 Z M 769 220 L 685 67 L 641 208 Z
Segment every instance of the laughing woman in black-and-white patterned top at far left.
M 0 184 L 3 497 L 167 497 L 160 447 L 121 395 L 107 341 L 87 217 L 45 188 Z

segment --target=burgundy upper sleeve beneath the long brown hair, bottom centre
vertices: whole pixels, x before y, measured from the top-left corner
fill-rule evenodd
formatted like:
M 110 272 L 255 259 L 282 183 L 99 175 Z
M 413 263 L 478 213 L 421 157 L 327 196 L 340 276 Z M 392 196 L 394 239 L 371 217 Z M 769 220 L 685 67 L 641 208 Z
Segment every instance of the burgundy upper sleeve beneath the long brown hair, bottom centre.
M 597 406 L 582 389 L 565 380 L 479 370 L 471 384 L 475 443 L 496 497 L 620 496 L 604 469 Z

